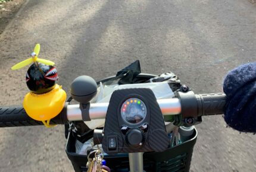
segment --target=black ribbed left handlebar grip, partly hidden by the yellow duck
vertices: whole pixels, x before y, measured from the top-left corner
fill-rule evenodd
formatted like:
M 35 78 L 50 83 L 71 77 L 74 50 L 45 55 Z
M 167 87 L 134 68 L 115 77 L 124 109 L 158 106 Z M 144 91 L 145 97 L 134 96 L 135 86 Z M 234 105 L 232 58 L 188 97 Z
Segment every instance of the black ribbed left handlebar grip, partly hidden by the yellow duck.
M 66 105 L 67 106 L 67 105 Z M 66 124 L 66 106 L 60 114 L 51 119 L 50 124 Z M 0 127 L 15 126 L 36 126 L 43 125 L 42 122 L 29 117 L 22 106 L 2 106 L 0 107 Z

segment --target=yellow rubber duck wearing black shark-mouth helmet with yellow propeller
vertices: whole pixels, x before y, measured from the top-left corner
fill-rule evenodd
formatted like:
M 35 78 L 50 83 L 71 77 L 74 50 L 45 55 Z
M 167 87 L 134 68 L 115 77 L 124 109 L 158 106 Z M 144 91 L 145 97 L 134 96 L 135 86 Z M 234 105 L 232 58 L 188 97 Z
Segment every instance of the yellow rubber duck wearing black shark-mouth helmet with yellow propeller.
M 26 83 L 30 92 L 23 100 L 26 113 L 35 120 L 39 120 L 47 128 L 50 120 L 57 116 L 65 105 L 67 94 L 61 85 L 56 84 L 58 80 L 57 69 L 54 62 L 39 59 L 40 44 L 36 44 L 32 58 L 17 63 L 11 69 L 16 70 L 33 63 L 26 73 Z

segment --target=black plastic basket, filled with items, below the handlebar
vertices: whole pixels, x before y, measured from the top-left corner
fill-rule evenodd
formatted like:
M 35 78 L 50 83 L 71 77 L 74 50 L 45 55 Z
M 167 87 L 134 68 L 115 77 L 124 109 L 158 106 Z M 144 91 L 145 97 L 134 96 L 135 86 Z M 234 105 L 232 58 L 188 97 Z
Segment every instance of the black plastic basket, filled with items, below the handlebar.
M 139 74 L 138 81 L 148 81 L 148 79 L 156 77 L 151 74 Z M 102 79 L 101 82 L 111 81 L 115 77 Z M 97 82 L 99 84 L 99 82 Z M 90 138 L 90 136 L 88 137 Z M 182 144 L 168 148 L 164 152 L 145 152 L 143 154 L 143 169 L 147 172 L 151 171 L 189 171 L 193 146 L 196 143 L 197 131 L 196 129 L 191 135 L 191 139 Z M 87 171 L 86 163 L 88 158 L 86 155 L 76 153 L 76 138 L 73 136 L 72 130 L 67 136 L 67 145 L 65 151 L 69 160 L 71 161 L 75 171 Z M 117 154 L 115 156 L 104 155 L 104 160 L 111 171 L 129 171 L 129 155 Z

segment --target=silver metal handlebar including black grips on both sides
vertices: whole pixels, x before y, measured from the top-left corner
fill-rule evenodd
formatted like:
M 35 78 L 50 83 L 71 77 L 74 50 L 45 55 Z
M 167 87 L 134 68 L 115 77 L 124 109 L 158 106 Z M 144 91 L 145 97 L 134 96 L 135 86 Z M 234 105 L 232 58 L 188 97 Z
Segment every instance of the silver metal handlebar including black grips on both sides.
M 185 114 L 191 113 L 192 116 L 207 116 L 213 114 L 223 114 L 226 104 L 226 95 L 217 94 L 194 94 L 193 97 L 185 98 L 180 95 L 179 98 L 168 98 L 157 100 L 163 115 L 183 114 L 183 117 L 189 117 Z M 89 107 L 89 119 L 104 119 L 107 113 L 108 103 L 92 103 Z M 54 119 L 51 124 L 67 124 L 68 121 L 83 120 L 85 117 L 79 104 L 68 105 Z M 37 126 L 43 125 L 42 122 L 32 119 L 27 115 L 22 106 L 4 106 L 0 107 L 0 127 L 15 126 Z

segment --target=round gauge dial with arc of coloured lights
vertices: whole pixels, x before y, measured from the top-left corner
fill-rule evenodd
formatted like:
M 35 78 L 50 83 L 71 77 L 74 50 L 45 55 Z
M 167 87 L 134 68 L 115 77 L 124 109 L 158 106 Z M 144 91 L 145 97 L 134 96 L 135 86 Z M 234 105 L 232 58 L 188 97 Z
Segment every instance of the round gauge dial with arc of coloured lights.
M 129 98 L 121 107 L 121 117 L 130 124 L 142 122 L 146 117 L 145 103 L 139 98 Z

